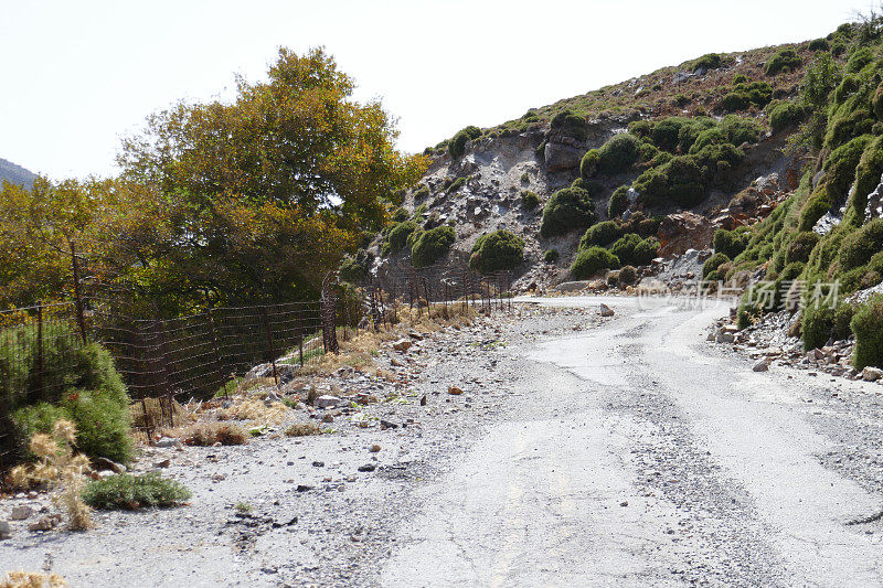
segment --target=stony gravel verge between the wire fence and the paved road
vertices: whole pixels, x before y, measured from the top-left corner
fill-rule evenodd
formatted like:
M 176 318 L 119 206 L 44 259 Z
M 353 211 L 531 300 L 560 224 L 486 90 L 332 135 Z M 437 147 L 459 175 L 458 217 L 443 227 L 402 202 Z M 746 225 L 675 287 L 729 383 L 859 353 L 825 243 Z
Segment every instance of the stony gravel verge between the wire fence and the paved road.
M 2 500 L 1 567 L 52 570 L 75 586 L 373 584 L 396 524 L 413 512 L 412 491 L 525 394 L 524 360 L 507 348 L 603 320 L 597 309 L 517 304 L 398 350 L 384 344 L 370 370 L 322 378 L 317 392 L 341 391 L 345 403 L 291 410 L 246 445 L 142 448 L 132 470 L 184 483 L 193 498 L 182 507 L 97 513 L 95 530 L 71 533 L 45 493 Z M 360 394 L 379 402 L 350 402 Z M 304 421 L 328 432 L 283 434 Z M 55 524 L 30 530 L 45 517 Z

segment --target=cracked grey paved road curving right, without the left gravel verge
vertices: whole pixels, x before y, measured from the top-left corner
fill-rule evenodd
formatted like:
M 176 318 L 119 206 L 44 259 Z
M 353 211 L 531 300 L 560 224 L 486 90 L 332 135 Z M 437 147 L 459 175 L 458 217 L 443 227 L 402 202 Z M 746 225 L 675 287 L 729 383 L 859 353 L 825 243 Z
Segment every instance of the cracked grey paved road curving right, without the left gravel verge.
M 723 306 L 542 301 L 600 302 L 614 320 L 512 350 L 530 394 L 417 491 L 380 584 L 883 585 L 883 528 L 848 524 L 883 498 L 820 457 L 829 384 L 712 349 Z

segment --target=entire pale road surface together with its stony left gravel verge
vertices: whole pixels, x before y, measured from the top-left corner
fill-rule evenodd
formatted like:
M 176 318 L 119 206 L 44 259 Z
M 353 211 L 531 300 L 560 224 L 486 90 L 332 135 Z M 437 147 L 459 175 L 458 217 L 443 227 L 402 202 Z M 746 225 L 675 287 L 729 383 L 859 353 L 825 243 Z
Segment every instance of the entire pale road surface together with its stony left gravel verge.
M 45 567 L 72 586 L 883 584 L 881 522 L 862 522 L 883 511 L 879 385 L 752 372 L 705 342 L 723 306 L 541 303 L 408 352 L 402 400 L 360 415 L 394 429 L 155 450 L 142 463 L 171 458 L 191 505 L 17 532 L 0 571 Z

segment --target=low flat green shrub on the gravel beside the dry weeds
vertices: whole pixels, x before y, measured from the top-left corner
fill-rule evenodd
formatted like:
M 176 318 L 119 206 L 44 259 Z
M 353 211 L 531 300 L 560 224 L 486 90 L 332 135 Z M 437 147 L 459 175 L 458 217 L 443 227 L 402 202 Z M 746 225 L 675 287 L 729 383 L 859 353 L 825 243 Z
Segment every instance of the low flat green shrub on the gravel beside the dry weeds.
M 181 504 L 190 496 L 190 491 L 181 483 L 163 479 L 158 473 L 121 473 L 89 482 L 83 490 L 86 504 L 105 511 L 167 509 Z

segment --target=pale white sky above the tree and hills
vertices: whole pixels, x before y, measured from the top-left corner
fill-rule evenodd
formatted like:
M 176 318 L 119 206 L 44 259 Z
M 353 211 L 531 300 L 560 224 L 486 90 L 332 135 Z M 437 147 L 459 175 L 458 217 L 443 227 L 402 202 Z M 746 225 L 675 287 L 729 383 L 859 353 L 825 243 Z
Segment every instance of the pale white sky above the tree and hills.
M 0 157 L 53 179 L 115 172 L 119 137 L 226 96 L 280 45 L 325 45 L 421 151 L 708 52 L 822 36 L 869 0 L 0 0 Z

